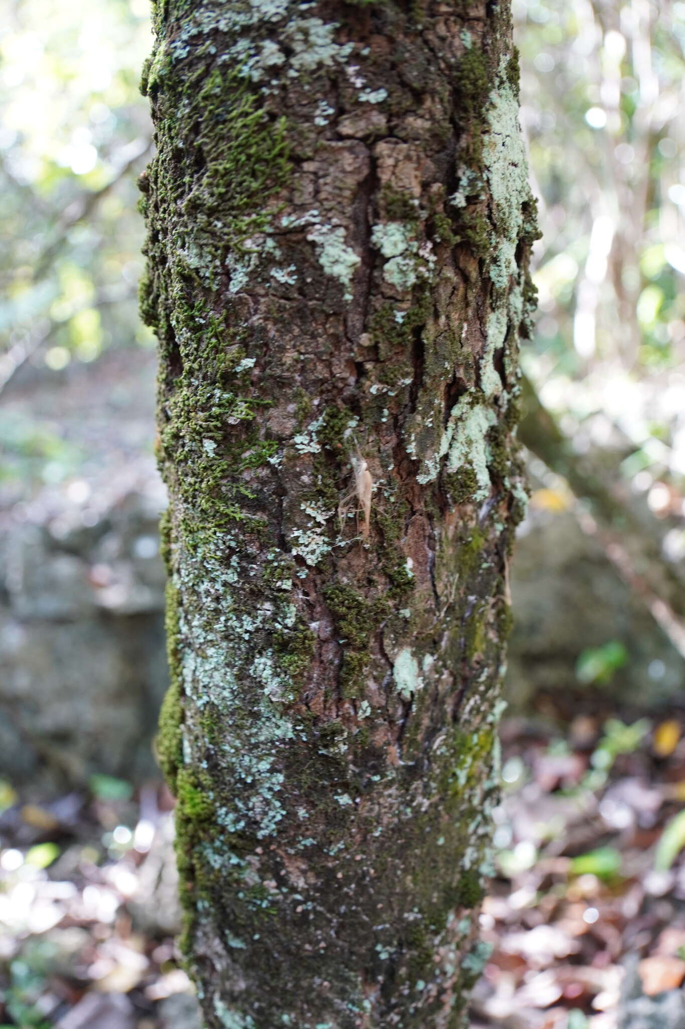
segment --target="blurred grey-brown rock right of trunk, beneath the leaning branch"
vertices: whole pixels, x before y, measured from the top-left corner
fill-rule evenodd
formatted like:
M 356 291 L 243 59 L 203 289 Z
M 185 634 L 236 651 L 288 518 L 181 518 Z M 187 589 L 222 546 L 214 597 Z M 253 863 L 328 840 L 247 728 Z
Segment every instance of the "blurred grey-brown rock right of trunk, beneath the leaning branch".
M 531 505 L 517 540 L 511 596 L 513 708 L 534 709 L 544 694 L 559 699 L 562 691 L 572 704 L 604 694 L 608 703 L 620 698 L 623 708 L 656 706 L 682 688 L 682 658 L 572 511 Z M 624 666 L 604 684 L 583 685 L 575 674 L 578 658 L 609 642 L 624 647 Z

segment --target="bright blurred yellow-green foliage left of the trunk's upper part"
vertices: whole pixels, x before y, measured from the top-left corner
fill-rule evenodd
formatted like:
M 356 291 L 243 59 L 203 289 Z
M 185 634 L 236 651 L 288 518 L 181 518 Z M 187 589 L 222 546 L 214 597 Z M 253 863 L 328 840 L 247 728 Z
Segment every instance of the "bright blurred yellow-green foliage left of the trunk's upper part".
M 149 3 L 16 0 L 4 15 L 0 388 L 28 359 L 56 370 L 151 343 L 135 182 L 151 131 L 138 91 Z

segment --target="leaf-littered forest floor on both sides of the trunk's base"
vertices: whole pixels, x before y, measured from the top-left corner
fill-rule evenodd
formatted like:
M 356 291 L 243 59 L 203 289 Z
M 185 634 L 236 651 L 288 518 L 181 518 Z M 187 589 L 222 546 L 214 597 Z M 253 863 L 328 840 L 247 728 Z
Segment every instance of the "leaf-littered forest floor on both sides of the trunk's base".
M 643 1005 L 673 999 L 684 730 L 578 715 L 562 737 L 504 722 L 473 1029 L 633 1025 L 617 1015 L 626 979 Z M 174 945 L 172 806 L 159 783 L 134 792 L 105 776 L 44 805 L 1 785 L 0 1029 L 197 1029 Z

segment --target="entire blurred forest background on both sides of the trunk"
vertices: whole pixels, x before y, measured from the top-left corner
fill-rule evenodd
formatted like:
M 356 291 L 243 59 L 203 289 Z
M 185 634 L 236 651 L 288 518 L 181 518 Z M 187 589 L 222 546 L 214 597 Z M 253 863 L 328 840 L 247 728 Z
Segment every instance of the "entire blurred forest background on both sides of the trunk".
M 685 3 L 513 0 L 539 199 L 503 801 L 472 1025 L 682 1029 Z M 147 0 L 8 0 L 0 1026 L 191 1029 L 169 811 Z

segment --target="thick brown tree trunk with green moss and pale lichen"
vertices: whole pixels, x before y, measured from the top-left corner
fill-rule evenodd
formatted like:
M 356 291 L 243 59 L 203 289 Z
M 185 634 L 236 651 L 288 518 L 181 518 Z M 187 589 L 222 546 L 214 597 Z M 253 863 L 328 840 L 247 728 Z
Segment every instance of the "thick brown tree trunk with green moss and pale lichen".
M 525 504 L 508 4 L 157 0 L 155 30 L 159 753 L 206 1026 L 459 1026 Z

